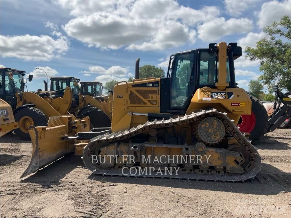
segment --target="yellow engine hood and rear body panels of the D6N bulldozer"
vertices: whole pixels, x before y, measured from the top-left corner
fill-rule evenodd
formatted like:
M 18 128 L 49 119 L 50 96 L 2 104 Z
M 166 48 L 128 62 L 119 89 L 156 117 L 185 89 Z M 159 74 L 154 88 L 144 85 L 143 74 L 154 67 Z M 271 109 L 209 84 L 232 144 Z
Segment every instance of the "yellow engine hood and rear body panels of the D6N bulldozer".
M 114 86 L 112 131 L 118 132 L 125 127 L 132 128 L 148 120 L 146 116 L 133 115 L 133 113 L 159 113 L 160 88 L 133 87 L 133 85 L 153 82 L 160 82 L 160 79 L 140 79 L 130 83 L 118 83 Z M 212 98 L 211 92 L 224 94 Z M 231 99 L 225 94 L 227 92 L 233 92 Z M 123 98 L 118 96 L 123 96 Z M 207 87 L 199 88 L 194 93 L 186 114 L 207 108 L 217 108 L 220 112 L 227 112 L 228 117 L 237 124 L 240 115 L 251 114 L 251 100 L 242 88 L 226 88 L 224 92 Z

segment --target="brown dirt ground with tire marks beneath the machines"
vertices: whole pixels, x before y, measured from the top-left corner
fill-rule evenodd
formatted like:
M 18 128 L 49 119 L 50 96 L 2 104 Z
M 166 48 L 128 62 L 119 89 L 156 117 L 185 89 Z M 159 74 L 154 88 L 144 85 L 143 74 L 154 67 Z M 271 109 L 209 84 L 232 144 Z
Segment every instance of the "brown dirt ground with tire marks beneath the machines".
M 11 133 L 1 138 L 1 217 L 291 217 L 290 135 L 256 145 L 255 179 L 223 183 L 96 176 L 73 154 L 20 180 L 32 145 Z

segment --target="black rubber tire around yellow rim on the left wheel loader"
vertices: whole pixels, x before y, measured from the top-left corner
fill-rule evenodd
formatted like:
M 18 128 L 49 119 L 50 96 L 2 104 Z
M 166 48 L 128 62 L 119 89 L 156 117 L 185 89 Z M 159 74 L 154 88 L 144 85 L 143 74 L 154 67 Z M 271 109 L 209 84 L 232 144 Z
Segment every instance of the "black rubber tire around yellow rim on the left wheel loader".
M 19 111 L 16 112 L 14 115 L 15 121 L 20 121 L 22 117 L 30 117 L 31 120 L 33 120 L 33 126 L 47 126 L 47 117 L 45 114 L 38 108 L 22 108 Z M 18 124 L 18 129 L 15 129 L 15 134 L 21 139 L 21 140 L 31 140 L 28 131 L 26 130 L 28 126 L 22 125 L 23 119 Z

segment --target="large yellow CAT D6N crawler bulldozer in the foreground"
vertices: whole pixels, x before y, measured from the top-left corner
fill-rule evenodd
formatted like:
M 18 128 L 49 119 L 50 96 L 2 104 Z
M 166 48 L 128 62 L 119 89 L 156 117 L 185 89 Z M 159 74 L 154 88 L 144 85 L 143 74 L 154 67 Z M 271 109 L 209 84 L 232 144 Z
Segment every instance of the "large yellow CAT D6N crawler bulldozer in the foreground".
M 139 79 L 138 61 L 136 79 L 114 86 L 111 128 L 68 136 L 58 131 L 65 122 L 31 126 L 33 148 L 68 151 L 52 138 L 66 142 L 70 151 L 84 147 L 85 166 L 103 176 L 233 182 L 253 178 L 261 156 L 236 126 L 242 114 L 251 114 L 250 98 L 235 83 L 233 63 L 241 55 L 241 47 L 225 42 L 178 52 L 170 57 L 166 78 Z M 197 161 L 189 162 L 193 156 Z M 38 152 L 31 162 L 41 160 L 43 165 L 43 159 Z M 171 167 L 176 173 L 167 173 Z M 22 177 L 35 170 L 29 166 Z

